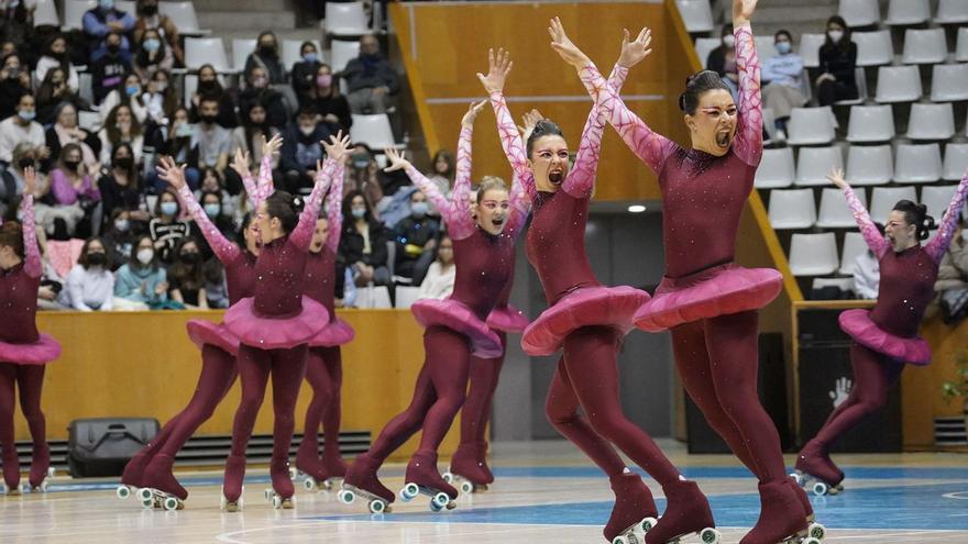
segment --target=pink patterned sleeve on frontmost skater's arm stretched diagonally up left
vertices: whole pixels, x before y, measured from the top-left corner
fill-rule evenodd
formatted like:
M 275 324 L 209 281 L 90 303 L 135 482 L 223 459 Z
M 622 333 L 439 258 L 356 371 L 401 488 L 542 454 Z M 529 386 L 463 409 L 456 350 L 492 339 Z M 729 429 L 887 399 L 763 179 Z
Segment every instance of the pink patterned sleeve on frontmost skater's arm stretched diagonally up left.
M 659 174 L 666 158 L 675 151 L 675 143 L 652 132 L 645 121 L 632 113 L 622 101 L 618 92 L 605 81 L 595 65 L 582 68 L 580 76 L 605 120 L 615 127 L 632 153 Z

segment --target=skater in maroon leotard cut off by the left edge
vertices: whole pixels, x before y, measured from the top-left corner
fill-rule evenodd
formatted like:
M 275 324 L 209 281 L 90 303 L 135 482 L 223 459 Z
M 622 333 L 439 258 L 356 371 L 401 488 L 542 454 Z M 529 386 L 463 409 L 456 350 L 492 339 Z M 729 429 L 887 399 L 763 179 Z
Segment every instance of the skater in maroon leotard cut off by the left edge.
M 23 170 L 23 223 L 0 224 L 0 448 L 7 495 L 20 493 L 20 460 L 13 442 L 14 388 L 33 438 L 31 488 L 46 489 L 51 466 L 46 420 L 41 411 L 45 365 L 61 356 L 61 344 L 37 332 L 41 252 L 34 225 L 33 168 Z

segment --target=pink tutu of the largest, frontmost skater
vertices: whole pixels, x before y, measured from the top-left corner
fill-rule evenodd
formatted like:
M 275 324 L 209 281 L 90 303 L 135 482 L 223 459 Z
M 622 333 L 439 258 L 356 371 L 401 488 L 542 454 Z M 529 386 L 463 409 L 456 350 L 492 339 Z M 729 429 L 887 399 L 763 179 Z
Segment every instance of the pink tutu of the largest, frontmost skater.
M 656 296 L 635 315 L 636 326 L 660 332 L 683 323 L 759 310 L 783 288 L 772 268 L 744 268 L 734 263 L 682 278 L 662 278 Z

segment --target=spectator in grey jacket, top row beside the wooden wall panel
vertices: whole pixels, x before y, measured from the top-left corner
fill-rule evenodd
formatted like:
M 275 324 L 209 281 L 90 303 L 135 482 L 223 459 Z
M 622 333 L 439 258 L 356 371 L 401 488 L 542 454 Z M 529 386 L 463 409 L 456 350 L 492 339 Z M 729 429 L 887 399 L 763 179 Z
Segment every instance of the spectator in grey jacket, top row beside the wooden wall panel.
M 360 38 L 360 56 L 346 63 L 342 76 L 353 113 L 384 113 L 391 97 L 400 90 L 400 78 L 380 54 L 380 42 L 373 34 Z

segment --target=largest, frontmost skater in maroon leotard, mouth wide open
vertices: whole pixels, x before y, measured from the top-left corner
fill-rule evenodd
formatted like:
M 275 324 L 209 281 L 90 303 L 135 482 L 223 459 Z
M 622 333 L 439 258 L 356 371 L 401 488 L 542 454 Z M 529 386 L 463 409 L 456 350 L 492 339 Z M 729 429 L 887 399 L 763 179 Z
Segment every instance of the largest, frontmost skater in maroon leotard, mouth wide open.
M 557 22 L 552 47 L 578 69 L 608 122 L 659 176 L 667 273 L 636 324 L 671 330 L 686 391 L 760 481 L 760 517 L 741 544 L 774 544 L 822 528 L 810 525 L 810 500 L 787 475 L 777 429 L 756 391 L 757 310 L 776 298 L 782 277 L 734 264 L 739 218 L 762 155 L 759 60 L 749 23 L 756 4 L 733 2 L 739 107 L 715 73 L 686 82 L 680 107 L 692 148 L 649 130 Z M 680 534 L 676 522 L 663 521 L 647 542 Z

